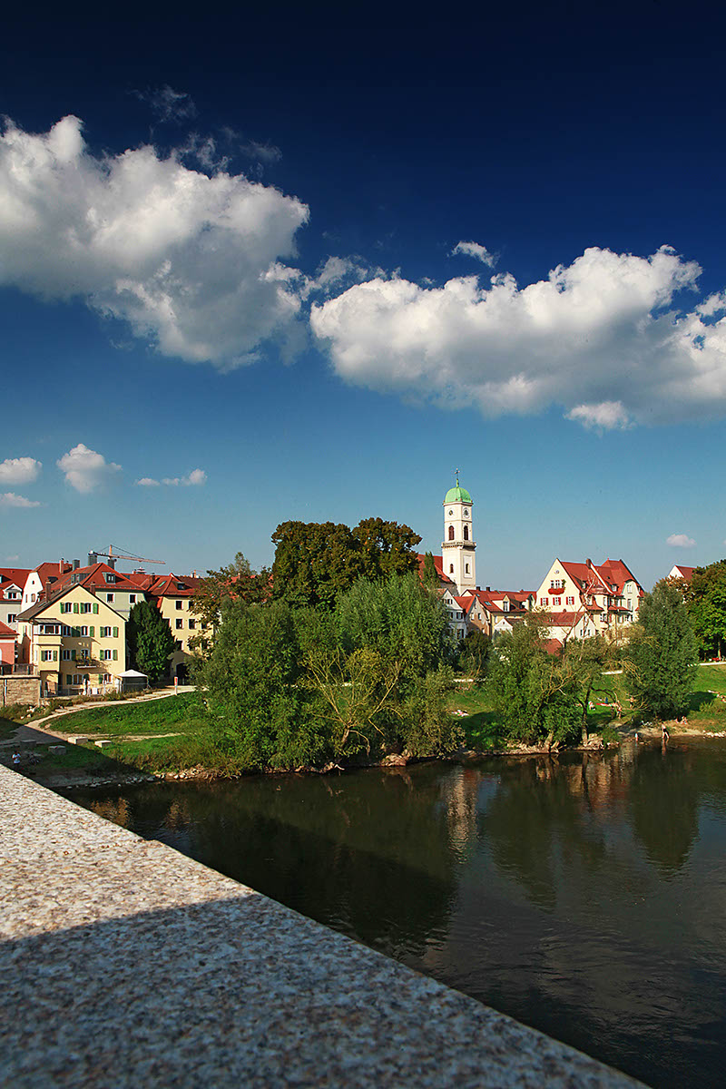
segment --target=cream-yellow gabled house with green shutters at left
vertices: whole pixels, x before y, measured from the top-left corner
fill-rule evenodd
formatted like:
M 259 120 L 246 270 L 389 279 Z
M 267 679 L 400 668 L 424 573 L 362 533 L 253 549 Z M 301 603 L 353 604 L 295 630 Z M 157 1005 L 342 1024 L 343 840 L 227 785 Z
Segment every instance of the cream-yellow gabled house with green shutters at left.
M 104 692 L 126 669 L 124 617 L 81 585 L 20 613 L 17 640 L 42 696 Z

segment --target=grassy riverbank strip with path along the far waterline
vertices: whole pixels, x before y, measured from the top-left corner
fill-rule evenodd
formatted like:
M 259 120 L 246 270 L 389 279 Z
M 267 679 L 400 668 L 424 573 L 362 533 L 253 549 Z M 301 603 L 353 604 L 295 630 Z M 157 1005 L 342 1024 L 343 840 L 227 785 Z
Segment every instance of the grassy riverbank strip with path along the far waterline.
M 613 675 L 607 682 L 612 695 L 601 698 L 588 717 L 589 744 L 568 749 L 596 752 L 635 743 L 636 732 L 642 742 L 660 742 L 660 724 L 636 722 L 628 712 L 617 719 L 617 703 L 623 706 L 625 699 L 623 678 Z M 462 725 L 464 741 L 456 752 L 444 759 L 466 763 L 489 756 L 556 757 L 555 750 L 543 745 L 504 743 L 485 692 L 476 685 L 458 686 L 451 696 L 450 711 Z M 726 736 L 726 665 L 701 666 L 687 721 L 666 725 L 674 738 L 689 734 Z M 5 734 L 0 739 L 0 762 L 10 763 L 13 749 L 20 748 L 20 770 L 51 788 L 233 779 L 260 773 L 259 769 L 241 767 L 234 752 L 221 748 L 216 723 L 201 695 L 190 688 L 177 695 L 168 689 L 133 700 L 63 708 L 24 725 L 0 719 L 0 729 Z M 418 759 L 440 758 L 441 754 L 432 752 Z M 324 767 L 280 769 L 280 773 L 292 770 L 340 774 L 346 767 L 355 770 L 409 762 L 411 758 L 406 752 L 391 754 L 374 761 L 358 759 L 346 761 L 345 766 L 343 761 L 331 761 Z

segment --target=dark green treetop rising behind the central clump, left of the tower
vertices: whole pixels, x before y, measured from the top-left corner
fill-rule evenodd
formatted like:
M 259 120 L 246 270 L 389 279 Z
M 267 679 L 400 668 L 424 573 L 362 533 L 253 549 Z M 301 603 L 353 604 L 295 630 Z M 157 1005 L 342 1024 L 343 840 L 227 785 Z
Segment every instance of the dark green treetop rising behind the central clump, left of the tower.
M 365 518 L 353 530 L 332 522 L 283 522 L 272 535 L 273 597 L 296 608 L 332 609 L 357 578 L 415 571 L 420 539 L 408 526 L 382 518 Z

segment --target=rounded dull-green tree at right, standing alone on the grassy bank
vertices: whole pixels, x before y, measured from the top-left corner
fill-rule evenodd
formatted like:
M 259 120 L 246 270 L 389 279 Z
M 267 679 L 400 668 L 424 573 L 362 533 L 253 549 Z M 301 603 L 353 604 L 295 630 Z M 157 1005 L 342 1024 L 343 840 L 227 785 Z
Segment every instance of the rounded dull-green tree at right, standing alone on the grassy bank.
M 686 712 L 698 646 L 678 587 L 661 579 L 640 602 L 623 666 L 636 710 L 656 719 Z

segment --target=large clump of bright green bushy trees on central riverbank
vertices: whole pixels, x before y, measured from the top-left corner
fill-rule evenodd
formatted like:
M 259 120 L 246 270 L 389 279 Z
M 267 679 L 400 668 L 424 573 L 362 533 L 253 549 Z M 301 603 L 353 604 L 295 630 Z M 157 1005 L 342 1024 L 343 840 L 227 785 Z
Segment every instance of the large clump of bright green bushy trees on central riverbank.
M 410 573 L 359 579 L 334 611 L 227 603 L 196 680 L 220 746 L 248 768 L 431 754 L 458 744 L 443 710 L 450 652 L 443 607 Z

